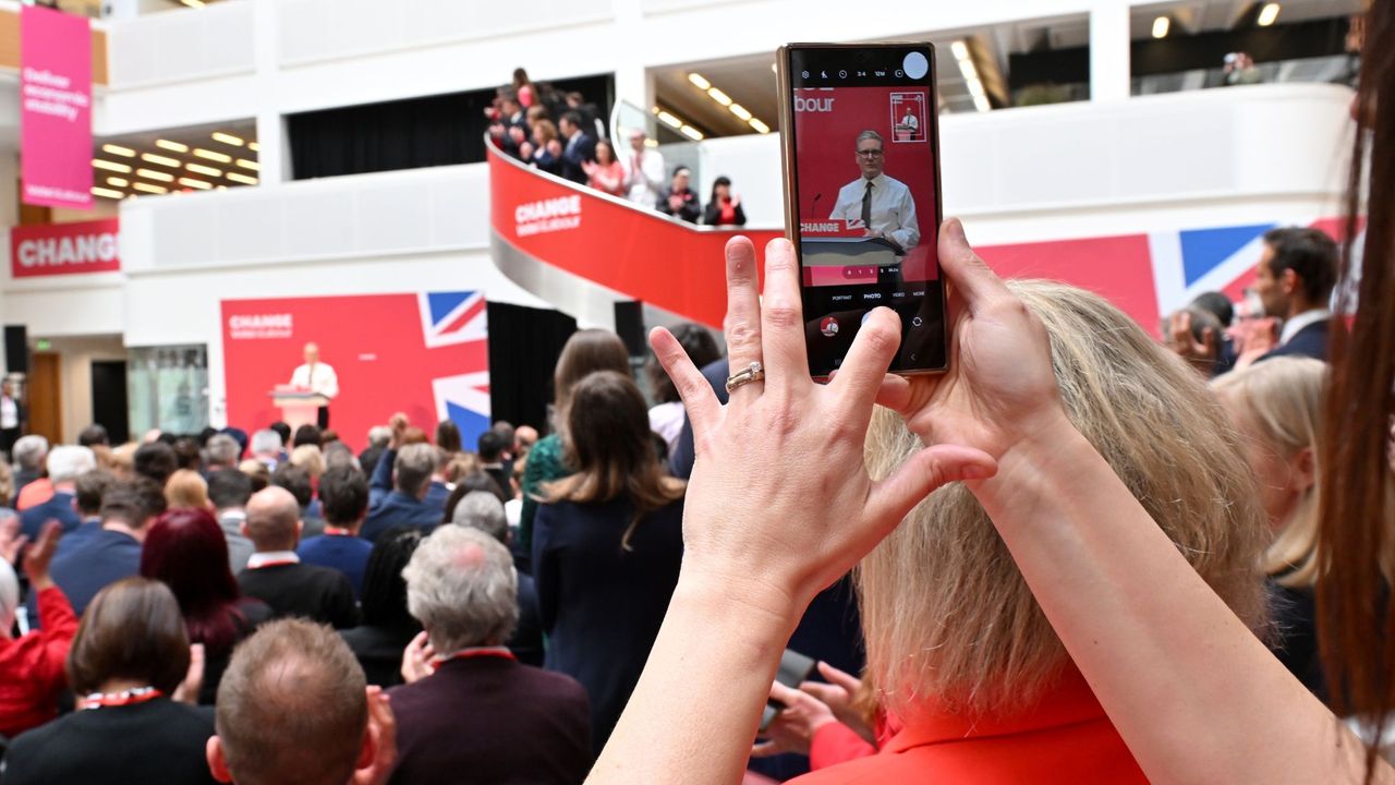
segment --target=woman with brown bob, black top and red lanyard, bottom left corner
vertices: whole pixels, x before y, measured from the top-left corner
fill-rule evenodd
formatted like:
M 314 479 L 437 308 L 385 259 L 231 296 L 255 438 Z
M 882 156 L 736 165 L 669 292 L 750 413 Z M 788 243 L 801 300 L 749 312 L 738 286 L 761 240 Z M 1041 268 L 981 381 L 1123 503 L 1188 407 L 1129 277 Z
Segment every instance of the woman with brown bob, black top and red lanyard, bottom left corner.
M 213 782 L 204 756 L 212 712 L 172 700 L 188 666 L 167 587 L 126 578 L 102 589 L 68 652 L 78 711 L 15 739 L 6 784 Z

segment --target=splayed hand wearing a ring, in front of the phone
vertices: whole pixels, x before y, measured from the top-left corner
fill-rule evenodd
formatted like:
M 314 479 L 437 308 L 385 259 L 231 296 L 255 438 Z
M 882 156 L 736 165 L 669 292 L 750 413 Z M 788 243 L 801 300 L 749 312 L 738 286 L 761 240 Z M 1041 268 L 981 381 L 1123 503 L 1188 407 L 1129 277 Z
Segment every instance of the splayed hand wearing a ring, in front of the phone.
M 731 373 L 764 366 L 764 380 L 737 387 L 727 406 L 667 330 L 650 337 L 682 395 L 698 454 L 682 577 L 691 588 L 755 603 L 792 626 L 815 594 L 926 494 L 990 476 L 996 465 L 981 450 L 939 444 L 880 482 L 868 478 L 862 451 L 873 398 L 900 342 L 897 316 L 873 310 L 837 377 L 815 384 L 788 240 L 766 247 L 763 303 L 751 240 L 727 243 L 725 327 Z

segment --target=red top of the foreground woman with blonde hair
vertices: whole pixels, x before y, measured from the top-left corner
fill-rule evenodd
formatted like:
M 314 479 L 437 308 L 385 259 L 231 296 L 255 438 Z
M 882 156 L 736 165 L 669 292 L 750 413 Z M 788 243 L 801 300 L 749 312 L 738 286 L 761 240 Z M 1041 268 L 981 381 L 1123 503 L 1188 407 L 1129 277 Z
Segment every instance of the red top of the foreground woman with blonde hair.
M 915 782 L 1147 784 L 1074 668 L 1035 707 L 1010 717 L 930 714 L 879 754 L 815 771 L 799 785 Z

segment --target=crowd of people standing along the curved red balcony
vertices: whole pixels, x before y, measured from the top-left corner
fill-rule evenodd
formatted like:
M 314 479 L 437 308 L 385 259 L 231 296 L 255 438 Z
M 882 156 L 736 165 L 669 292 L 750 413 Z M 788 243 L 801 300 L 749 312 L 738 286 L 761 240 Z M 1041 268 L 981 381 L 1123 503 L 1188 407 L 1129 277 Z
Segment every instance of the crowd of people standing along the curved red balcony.
M 533 84 L 527 71 L 516 68 L 485 116 L 494 144 L 529 166 L 689 223 L 746 225 L 730 177 L 713 182 L 704 204 L 692 190 L 692 170 L 684 165 L 667 169 L 664 154 L 643 130 L 629 131 L 629 149 L 617 149 L 604 117 L 580 92 Z

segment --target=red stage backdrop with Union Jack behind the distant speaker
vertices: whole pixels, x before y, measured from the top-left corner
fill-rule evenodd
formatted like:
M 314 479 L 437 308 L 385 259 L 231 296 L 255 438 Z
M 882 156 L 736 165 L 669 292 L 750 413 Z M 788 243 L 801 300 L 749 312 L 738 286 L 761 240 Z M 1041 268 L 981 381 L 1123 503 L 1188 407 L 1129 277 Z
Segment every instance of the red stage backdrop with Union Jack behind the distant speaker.
M 453 419 L 466 446 L 490 427 L 483 292 L 223 300 L 227 423 L 280 419 L 268 392 L 290 381 L 307 342 L 339 376 L 329 427 L 360 450 L 368 429 L 402 411 L 434 433 Z

